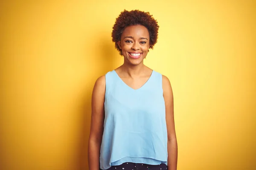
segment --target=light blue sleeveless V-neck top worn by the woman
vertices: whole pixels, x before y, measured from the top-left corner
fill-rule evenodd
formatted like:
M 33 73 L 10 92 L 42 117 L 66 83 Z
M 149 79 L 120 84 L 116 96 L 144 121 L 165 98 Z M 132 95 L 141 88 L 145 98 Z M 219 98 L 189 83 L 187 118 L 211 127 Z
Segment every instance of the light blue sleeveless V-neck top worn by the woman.
M 167 128 L 162 75 L 153 71 L 134 90 L 116 71 L 106 75 L 100 168 L 124 162 L 167 164 Z

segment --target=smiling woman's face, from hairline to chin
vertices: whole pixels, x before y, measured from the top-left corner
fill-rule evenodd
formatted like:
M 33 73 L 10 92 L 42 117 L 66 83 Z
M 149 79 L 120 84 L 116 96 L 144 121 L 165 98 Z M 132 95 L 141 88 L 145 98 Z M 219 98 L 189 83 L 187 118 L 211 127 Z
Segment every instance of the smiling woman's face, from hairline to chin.
M 122 50 L 125 63 L 131 65 L 143 64 L 143 59 L 147 56 L 149 48 L 148 29 L 141 25 L 126 27 L 118 45 Z

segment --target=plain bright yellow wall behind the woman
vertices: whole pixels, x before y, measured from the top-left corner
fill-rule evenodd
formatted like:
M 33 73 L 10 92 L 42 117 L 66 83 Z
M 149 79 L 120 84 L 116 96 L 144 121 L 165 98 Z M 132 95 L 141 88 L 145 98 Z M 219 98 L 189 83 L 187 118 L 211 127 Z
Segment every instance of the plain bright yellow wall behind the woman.
M 145 64 L 172 83 L 178 170 L 256 167 L 256 1 L 6 0 L 1 170 L 87 170 L 93 84 L 122 64 L 111 30 L 136 8 L 160 25 Z

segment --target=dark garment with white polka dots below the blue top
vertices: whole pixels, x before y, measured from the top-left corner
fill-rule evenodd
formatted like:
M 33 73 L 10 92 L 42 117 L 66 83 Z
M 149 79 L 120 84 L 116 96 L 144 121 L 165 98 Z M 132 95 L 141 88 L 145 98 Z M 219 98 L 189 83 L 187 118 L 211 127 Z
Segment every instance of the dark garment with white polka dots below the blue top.
M 166 164 L 141 164 L 141 163 L 131 163 L 125 162 L 120 165 L 111 166 L 108 170 L 167 170 Z

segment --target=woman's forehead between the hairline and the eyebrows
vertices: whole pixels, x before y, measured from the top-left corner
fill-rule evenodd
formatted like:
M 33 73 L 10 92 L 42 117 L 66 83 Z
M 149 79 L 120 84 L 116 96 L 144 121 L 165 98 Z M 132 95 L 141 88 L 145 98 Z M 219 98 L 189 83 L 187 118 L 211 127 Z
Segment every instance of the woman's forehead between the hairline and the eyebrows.
M 149 33 L 148 33 L 148 29 L 145 26 L 141 26 L 141 25 L 128 26 L 122 32 L 121 38 L 128 37 L 128 36 L 131 36 L 134 38 L 140 38 L 140 37 L 149 38 Z

